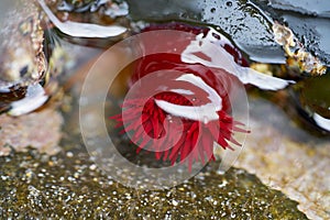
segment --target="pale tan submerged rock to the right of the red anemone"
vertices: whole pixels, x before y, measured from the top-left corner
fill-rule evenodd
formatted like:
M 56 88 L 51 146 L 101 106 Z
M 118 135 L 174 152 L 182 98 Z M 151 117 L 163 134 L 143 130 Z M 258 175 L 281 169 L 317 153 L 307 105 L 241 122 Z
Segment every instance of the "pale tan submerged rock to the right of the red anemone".
M 329 138 L 300 130 L 270 102 L 250 99 L 250 108 L 251 135 L 234 166 L 298 201 L 308 218 L 329 219 Z

